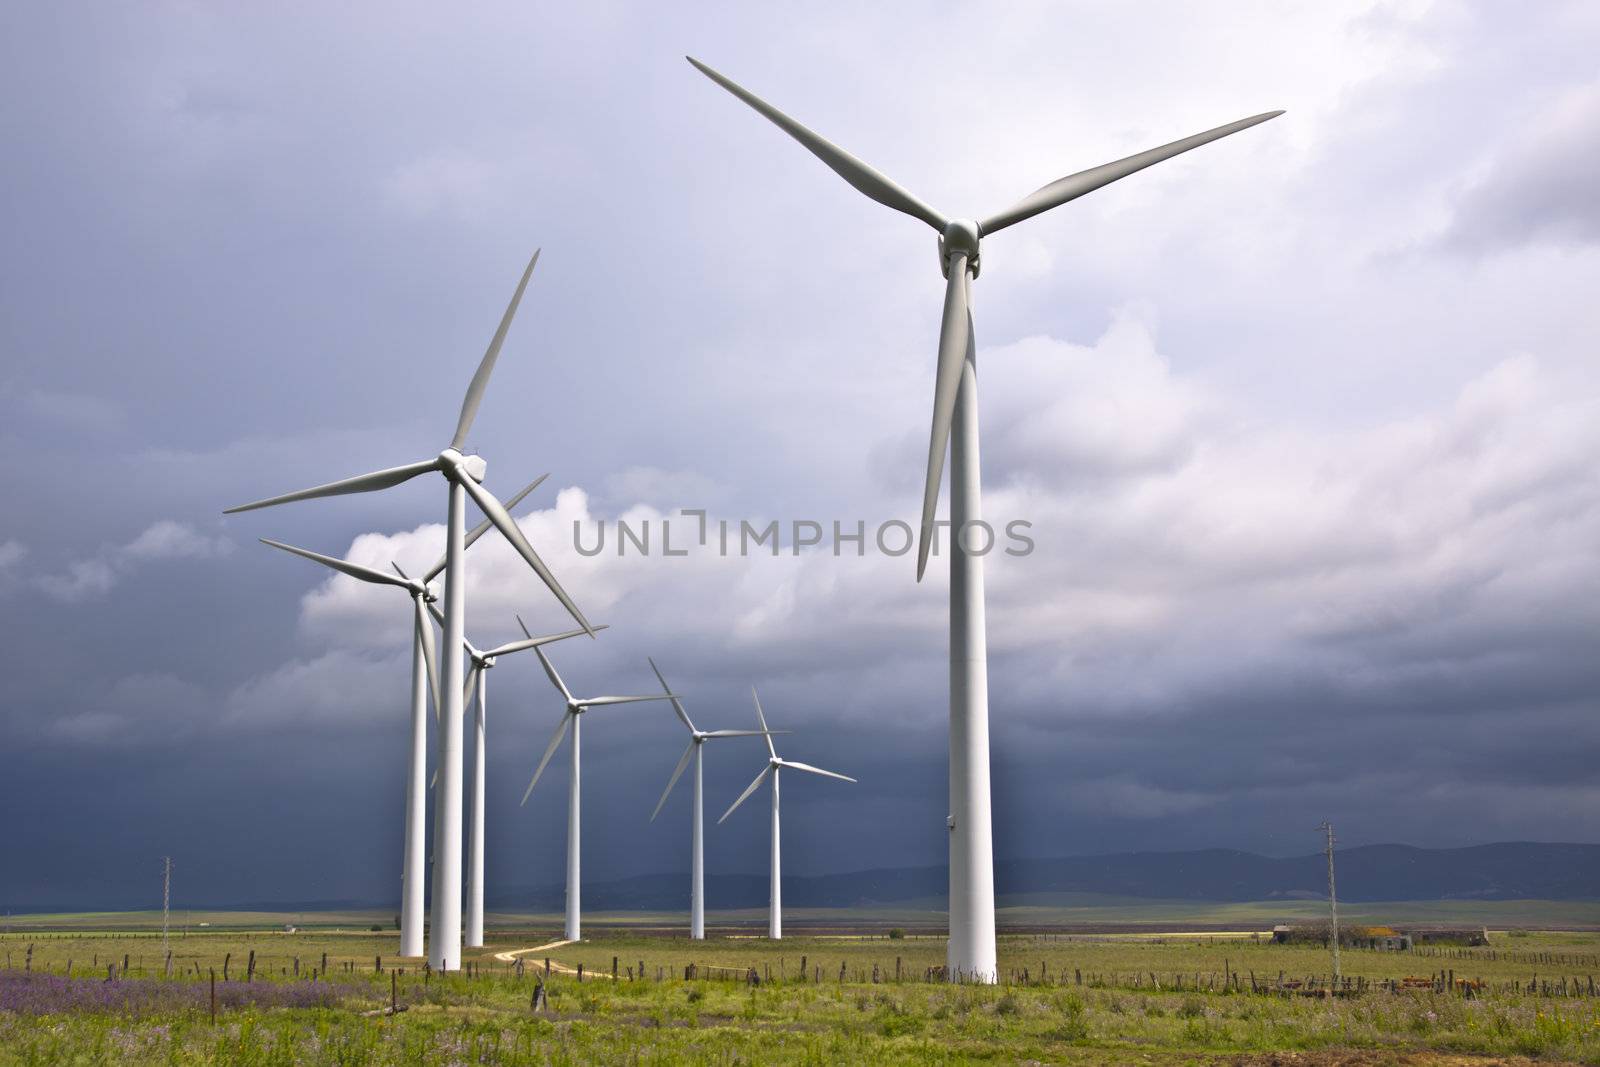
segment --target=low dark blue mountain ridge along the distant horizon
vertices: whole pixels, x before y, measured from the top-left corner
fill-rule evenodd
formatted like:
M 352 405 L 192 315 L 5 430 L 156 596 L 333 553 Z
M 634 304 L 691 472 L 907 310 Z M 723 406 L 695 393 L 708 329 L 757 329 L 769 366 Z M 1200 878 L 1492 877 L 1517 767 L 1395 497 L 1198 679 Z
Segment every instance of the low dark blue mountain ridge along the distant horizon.
M 1339 849 L 1339 897 L 1358 901 L 1582 901 L 1600 899 L 1600 845 L 1506 841 L 1470 848 L 1363 845 Z M 790 907 L 869 907 L 925 901 L 942 907 L 944 867 L 786 875 Z M 707 875 L 706 896 L 720 909 L 766 904 L 765 875 Z M 1274 901 L 1322 897 L 1328 891 L 1322 853 L 1274 859 L 1211 848 L 1192 853 L 1118 853 L 995 864 L 995 893 L 1104 894 L 1166 901 Z M 491 907 L 558 910 L 562 885 L 507 888 Z M 688 873 L 586 883 L 584 904 L 597 910 L 682 907 Z

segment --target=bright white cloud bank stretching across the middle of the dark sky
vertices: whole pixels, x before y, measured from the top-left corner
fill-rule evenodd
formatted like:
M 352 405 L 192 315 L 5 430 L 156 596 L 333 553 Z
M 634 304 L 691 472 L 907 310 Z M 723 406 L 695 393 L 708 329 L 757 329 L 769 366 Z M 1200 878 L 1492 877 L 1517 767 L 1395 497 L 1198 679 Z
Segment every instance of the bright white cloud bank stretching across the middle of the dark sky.
M 986 358 L 1014 363 L 994 379 L 1029 382 L 986 394 L 987 454 L 1010 475 L 992 478 L 986 514 L 1030 520 L 1037 541 L 1026 558 L 989 557 L 992 656 L 1026 664 L 995 677 L 1010 689 L 997 701 L 1046 720 L 1184 715 L 1197 689 L 1226 677 L 1331 657 L 1374 672 L 1374 683 L 1398 680 L 1435 654 L 1434 641 L 1515 632 L 1541 603 L 1595 614 L 1573 590 L 1600 581 L 1600 477 L 1589 466 L 1600 398 L 1557 389 L 1531 357 L 1499 363 L 1430 411 L 1318 430 L 1230 410 L 1202 378 L 1176 374 L 1134 317 L 1094 346 L 1032 338 Z M 659 555 L 664 518 L 686 558 Z M 602 646 L 621 637 L 702 664 L 826 669 L 832 686 L 901 688 L 907 713 L 939 707 L 920 699 L 939 689 L 925 670 L 944 641 L 939 565 L 917 585 L 909 557 L 878 553 L 870 534 L 866 558 L 826 544 L 795 557 L 787 526 L 778 558 L 720 558 L 718 518 L 738 544 L 739 517 L 712 514 L 710 545 L 699 549 L 693 518 L 643 504 L 597 512 L 568 486 L 518 522 L 590 619 L 619 627 Z M 573 523 L 592 545 L 598 520 L 605 552 L 579 555 Z M 648 523 L 654 555 L 619 557 L 618 520 Z M 347 555 L 422 568 L 442 537 L 437 525 L 370 533 Z M 472 549 L 467 569 L 480 646 L 514 637 L 514 613 L 541 630 L 568 625 L 498 536 Z M 349 649 L 402 649 L 410 635 L 405 597 L 338 576 L 306 595 L 301 624 Z M 909 691 L 898 681 L 907 677 Z

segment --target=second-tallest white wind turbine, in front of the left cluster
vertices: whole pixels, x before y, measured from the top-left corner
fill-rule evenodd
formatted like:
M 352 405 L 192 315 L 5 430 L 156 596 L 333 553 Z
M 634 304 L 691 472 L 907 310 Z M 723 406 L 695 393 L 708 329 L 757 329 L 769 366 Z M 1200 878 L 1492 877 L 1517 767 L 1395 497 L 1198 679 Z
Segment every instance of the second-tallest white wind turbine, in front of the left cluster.
M 450 445 L 432 459 L 422 459 L 403 467 L 389 467 L 371 474 L 330 482 L 296 493 L 285 493 L 253 504 L 229 507 L 224 514 L 248 512 L 258 507 L 272 507 L 291 501 L 309 501 L 322 496 L 344 496 L 349 493 L 373 493 L 387 490 L 429 472 L 438 472 L 450 486 L 450 510 L 445 533 L 445 649 L 443 677 L 440 680 L 440 699 L 443 702 L 438 731 L 438 801 L 434 805 L 434 920 L 432 944 L 429 945 L 429 965 L 437 971 L 461 969 L 461 691 L 462 691 L 462 625 L 466 619 L 466 574 L 462 571 L 462 549 L 466 541 L 466 507 L 470 496 L 494 528 L 510 541 L 517 553 L 528 561 L 528 566 L 555 593 L 557 600 L 571 613 L 584 630 L 594 633 L 589 621 L 566 595 L 562 584 L 555 581 L 550 568 L 544 565 L 539 553 L 533 550 L 528 539 L 517 528 L 510 512 L 494 499 L 494 494 L 480 483 L 488 466 L 482 456 L 462 454 L 472 419 L 483 402 L 490 374 L 499 358 L 506 333 L 517 315 L 517 306 L 533 277 L 533 267 L 539 262 L 539 253 L 533 253 L 528 269 L 522 272 L 517 291 L 501 317 L 499 328 L 490 341 L 488 350 L 478 362 L 478 370 L 472 374 L 467 394 L 461 402 L 461 416 L 456 419 L 456 434 Z

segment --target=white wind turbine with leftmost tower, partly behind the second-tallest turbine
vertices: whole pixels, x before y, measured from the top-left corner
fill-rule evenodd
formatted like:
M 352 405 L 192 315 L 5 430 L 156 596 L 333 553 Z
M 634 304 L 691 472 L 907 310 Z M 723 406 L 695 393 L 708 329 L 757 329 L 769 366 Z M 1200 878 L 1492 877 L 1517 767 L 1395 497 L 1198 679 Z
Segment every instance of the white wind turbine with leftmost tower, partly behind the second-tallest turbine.
M 541 474 L 520 493 L 517 493 L 517 496 L 506 501 L 507 510 L 517 507 L 517 504 L 520 504 L 525 496 L 533 493 L 539 483 L 544 482 L 544 478 L 546 475 Z M 470 549 L 472 542 L 482 537 L 490 526 L 493 526 L 490 520 L 483 520 L 474 526 L 466 536 L 464 547 Z M 437 565 L 434 565 L 434 568 L 424 574 L 421 581 L 411 581 L 406 577 L 405 571 L 400 571 L 398 563 L 390 565 L 398 573 L 398 577 L 395 577 L 395 574 L 362 566 L 360 563 L 339 560 L 331 555 L 312 552 L 310 549 L 296 549 L 294 545 L 283 544 L 282 541 L 262 537 L 261 542 L 269 544 L 274 549 L 283 549 L 285 552 L 306 557 L 307 560 L 314 560 L 330 569 L 349 574 L 350 577 L 363 582 L 371 582 L 374 585 L 395 585 L 411 595 L 411 758 L 406 765 L 405 776 L 405 859 L 402 861 L 400 869 L 400 955 L 419 957 L 426 952 L 422 944 L 422 886 L 427 878 L 427 795 L 422 782 L 427 777 L 429 702 L 434 704 L 434 715 L 438 715 L 438 670 L 435 667 L 434 654 L 434 625 L 427 621 L 427 611 L 435 600 L 430 585 L 438 573 L 445 569 L 445 560 L 442 558 Z

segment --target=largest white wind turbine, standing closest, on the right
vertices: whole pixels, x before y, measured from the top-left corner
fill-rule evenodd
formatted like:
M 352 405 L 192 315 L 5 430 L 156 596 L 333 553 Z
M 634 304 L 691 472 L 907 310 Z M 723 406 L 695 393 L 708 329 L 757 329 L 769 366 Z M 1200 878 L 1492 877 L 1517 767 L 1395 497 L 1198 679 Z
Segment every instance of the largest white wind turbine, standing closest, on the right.
M 693 56 L 706 77 L 754 107 L 798 141 L 866 197 L 922 219 L 939 232 L 939 270 L 944 272 L 944 315 L 933 392 L 933 427 L 923 482 L 922 525 L 917 544 L 917 581 L 928 566 L 933 514 L 950 448 L 950 944 L 952 981 L 997 981 L 994 915 L 994 846 L 989 811 L 989 651 L 984 625 L 982 557 L 962 544 L 962 533 L 982 522 L 978 464 L 978 362 L 971 317 L 971 278 L 978 277 L 982 237 L 1094 192 L 1146 166 L 1197 149 L 1219 138 L 1277 118 L 1262 112 L 1173 141 L 1138 155 L 1067 174 L 982 221 L 934 211 L 854 155 L 806 130 L 754 93 L 717 74 Z

